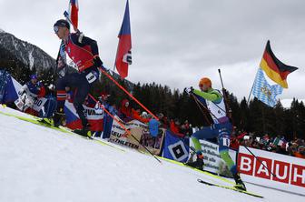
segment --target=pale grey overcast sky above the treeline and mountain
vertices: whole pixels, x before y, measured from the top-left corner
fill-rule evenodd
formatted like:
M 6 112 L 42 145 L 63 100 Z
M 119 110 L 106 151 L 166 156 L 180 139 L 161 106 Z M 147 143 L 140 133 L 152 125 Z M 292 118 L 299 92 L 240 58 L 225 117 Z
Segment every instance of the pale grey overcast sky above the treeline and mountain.
M 125 0 L 79 0 L 79 28 L 98 42 L 113 69 Z M 280 99 L 305 99 L 304 0 L 130 0 L 133 83 L 180 90 L 202 76 L 221 81 L 235 96 L 248 97 L 267 40 L 275 56 L 299 70 L 288 76 Z M 53 25 L 68 0 L 0 0 L 0 28 L 57 56 Z

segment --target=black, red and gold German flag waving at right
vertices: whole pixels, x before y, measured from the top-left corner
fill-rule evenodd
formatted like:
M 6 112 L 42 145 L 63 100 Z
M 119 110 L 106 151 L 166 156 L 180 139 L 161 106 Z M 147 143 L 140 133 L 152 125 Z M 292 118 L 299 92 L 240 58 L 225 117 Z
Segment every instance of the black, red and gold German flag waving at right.
M 275 83 L 279 84 L 284 88 L 288 88 L 287 76 L 297 70 L 295 66 L 286 66 L 280 60 L 274 56 L 270 41 L 268 40 L 265 52 L 261 58 L 261 69 L 264 70 L 267 76 L 271 78 Z

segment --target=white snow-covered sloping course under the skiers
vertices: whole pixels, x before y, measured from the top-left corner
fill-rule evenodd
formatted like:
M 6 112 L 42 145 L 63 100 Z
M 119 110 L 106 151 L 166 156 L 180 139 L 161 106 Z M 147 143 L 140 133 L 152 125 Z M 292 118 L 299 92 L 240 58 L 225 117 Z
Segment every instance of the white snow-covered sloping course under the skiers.
M 18 114 L 8 107 L 0 111 Z M 246 184 L 264 198 L 209 187 L 197 178 L 228 185 L 187 167 L 137 151 L 103 146 L 0 114 L 0 201 L 276 201 L 305 197 Z

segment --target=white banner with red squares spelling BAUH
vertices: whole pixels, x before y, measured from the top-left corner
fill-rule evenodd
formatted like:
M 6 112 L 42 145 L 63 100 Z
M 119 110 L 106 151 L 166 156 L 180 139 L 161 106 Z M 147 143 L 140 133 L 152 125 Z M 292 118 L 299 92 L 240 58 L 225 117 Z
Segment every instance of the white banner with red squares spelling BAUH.
M 305 159 L 249 149 L 259 160 L 240 146 L 238 167 L 244 181 L 305 196 Z

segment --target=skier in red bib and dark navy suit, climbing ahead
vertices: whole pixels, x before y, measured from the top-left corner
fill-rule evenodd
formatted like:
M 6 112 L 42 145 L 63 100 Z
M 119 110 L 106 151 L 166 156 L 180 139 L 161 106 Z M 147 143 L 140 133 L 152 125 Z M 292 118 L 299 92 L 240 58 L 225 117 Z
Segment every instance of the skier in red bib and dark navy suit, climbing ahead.
M 54 114 L 54 126 L 59 126 L 64 116 L 65 87 L 75 87 L 74 107 L 82 121 L 83 135 L 87 136 L 90 125 L 84 115 L 83 104 L 90 88 L 98 81 L 98 67 L 103 68 L 103 62 L 98 53 L 98 46 L 95 40 L 84 36 L 82 33 L 70 33 L 70 25 L 63 19 L 58 20 L 54 24 L 54 32 L 62 39 L 62 50 L 59 54 L 61 61 L 57 60 L 57 62 L 65 64 L 65 56 L 63 55 L 63 52 L 65 52 L 73 60 L 78 69 L 77 73 L 66 74 L 63 66 L 57 66 L 59 69 L 56 81 L 57 109 Z M 61 67 L 63 68 L 61 69 Z

